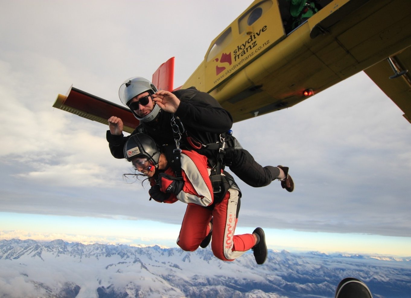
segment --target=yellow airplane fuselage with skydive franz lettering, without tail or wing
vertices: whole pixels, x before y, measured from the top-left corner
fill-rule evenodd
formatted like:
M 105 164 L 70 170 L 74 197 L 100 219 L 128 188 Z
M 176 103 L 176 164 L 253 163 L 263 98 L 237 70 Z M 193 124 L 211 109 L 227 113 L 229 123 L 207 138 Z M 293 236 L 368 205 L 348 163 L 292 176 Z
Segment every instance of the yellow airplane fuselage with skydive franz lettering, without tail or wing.
M 259 18 L 244 23 L 255 11 Z M 241 121 L 291 107 L 304 90 L 323 91 L 411 45 L 407 0 L 334 0 L 291 32 L 283 23 L 276 1 L 254 1 L 182 88 L 210 93 Z

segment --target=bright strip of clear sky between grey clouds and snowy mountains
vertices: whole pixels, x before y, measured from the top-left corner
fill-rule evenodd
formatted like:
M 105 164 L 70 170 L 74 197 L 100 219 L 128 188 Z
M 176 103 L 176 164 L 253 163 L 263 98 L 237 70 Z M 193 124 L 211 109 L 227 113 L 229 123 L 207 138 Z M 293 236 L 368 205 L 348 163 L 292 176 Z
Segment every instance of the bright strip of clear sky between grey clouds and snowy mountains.
M 13 232 L 0 232 L 0 239 L 19 237 L 50 241 L 119 243 L 127 245 L 159 244 L 176 247 L 180 225 L 155 221 L 126 219 L 53 216 L 38 214 L 0 213 L 0 226 Z M 238 227 L 237 234 L 249 233 L 252 227 Z M 325 253 L 349 252 L 380 255 L 410 256 L 410 237 L 388 237 L 370 234 L 299 232 L 265 228 L 267 246 L 273 250 Z M 24 232 L 23 232 L 24 231 Z M 39 232 L 42 231 L 42 232 Z

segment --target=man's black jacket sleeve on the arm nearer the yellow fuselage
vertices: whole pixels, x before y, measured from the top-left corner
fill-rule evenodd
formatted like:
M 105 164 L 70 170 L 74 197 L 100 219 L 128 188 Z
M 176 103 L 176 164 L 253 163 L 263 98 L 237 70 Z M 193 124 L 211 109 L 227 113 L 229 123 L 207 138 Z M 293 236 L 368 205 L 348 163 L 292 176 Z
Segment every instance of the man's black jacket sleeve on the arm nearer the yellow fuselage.
M 180 117 L 184 125 L 212 133 L 231 129 L 233 117 L 208 93 L 196 91 L 195 96 L 188 100 L 184 93 L 177 91 L 175 95 L 181 100 L 175 115 Z

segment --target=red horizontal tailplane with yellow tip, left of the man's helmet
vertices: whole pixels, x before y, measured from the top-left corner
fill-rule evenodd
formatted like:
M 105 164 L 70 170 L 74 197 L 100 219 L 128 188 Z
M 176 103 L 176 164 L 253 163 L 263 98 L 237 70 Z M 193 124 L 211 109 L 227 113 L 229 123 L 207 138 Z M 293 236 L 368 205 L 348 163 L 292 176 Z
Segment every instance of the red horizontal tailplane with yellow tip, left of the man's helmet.
M 109 125 L 107 120 L 111 116 L 120 117 L 124 123 L 123 130 L 129 133 L 132 133 L 139 125 L 139 121 L 129 109 L 73 86 L 70 87 L 67 95 L 59 94 L 57 96 L 53 107 L 106 125 Z

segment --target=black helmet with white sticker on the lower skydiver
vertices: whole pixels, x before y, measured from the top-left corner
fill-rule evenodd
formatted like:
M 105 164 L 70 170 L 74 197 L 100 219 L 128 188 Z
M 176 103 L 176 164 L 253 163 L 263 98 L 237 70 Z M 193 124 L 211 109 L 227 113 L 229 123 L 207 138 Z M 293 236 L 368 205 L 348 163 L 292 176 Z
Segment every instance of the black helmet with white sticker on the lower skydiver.
M 145 156 L 157 168 L 160 151 L 155 141 L 147 134 L 133 134 L 124 145 L 124 156 L 128 162 L 132 158 Z

